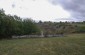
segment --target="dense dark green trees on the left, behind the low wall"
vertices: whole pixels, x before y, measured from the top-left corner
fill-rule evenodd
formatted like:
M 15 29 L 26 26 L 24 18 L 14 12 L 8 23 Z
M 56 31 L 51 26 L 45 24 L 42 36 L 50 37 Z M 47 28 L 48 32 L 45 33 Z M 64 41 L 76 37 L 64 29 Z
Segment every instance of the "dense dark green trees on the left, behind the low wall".
M 12 38 L 13 35 L 39 34 L 40 29 L 32 19 L 22 19 L 16 15 L 6 15 L 0 10 L 0 39 Z

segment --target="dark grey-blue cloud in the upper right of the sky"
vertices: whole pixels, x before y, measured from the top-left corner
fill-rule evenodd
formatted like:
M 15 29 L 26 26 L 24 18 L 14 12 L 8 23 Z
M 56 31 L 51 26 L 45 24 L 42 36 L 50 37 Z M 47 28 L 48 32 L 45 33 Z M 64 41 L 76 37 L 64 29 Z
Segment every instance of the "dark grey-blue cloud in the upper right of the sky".
M 49 0 L 52 4 L 60 4 L 76 19 L 85 20 L 85 0 Z

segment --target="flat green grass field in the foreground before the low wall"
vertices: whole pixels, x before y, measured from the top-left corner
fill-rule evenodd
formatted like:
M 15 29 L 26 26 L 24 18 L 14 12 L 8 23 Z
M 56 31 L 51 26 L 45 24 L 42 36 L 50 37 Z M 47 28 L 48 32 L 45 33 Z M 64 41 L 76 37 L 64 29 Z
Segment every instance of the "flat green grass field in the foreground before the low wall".
M 85 55 L 85 34 L 0 40 L 0 55 Z

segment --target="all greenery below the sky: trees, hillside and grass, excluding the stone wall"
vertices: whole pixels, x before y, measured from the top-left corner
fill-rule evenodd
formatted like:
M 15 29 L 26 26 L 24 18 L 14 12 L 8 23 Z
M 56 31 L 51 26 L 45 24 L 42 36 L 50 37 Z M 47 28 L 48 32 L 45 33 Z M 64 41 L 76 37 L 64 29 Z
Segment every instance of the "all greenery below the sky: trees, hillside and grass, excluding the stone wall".
M 50 38 L 12 38 L 19 35 L 39 35 L 40 32 L 50 36 L 66 35 Z M 3 9 L 0 10 L 0 55 L 85 55 L 84 33 L 85 21 L 35 22 L 30 18 L 6 15 Z

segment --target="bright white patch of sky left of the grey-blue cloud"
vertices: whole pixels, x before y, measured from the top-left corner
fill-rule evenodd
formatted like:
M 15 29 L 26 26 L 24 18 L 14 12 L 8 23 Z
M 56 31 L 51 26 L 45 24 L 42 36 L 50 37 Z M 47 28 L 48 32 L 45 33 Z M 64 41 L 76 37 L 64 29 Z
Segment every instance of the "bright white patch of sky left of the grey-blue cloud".
M 62 6 L 54 6 L 48 0 L 0 0 L 0 8 L 3 8 L 6 14 L 36 21 L 63 21 L 63 18 L 68 21 L 71 17 Z

